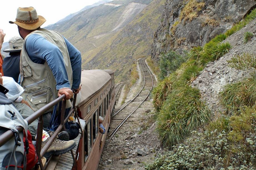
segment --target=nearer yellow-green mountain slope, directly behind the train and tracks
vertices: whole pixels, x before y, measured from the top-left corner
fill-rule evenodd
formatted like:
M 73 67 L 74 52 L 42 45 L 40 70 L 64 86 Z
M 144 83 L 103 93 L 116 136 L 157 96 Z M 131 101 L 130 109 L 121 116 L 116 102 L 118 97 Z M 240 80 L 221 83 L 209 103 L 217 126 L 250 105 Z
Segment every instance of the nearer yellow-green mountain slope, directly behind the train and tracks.
M 116 71 L 117 78 L 125 79 L 130 66 L 137 58 L 150 55 L 152 39 L 164 2 L 152 1 L 108 42 L 84 54 L 84 68 L 111 68 Z

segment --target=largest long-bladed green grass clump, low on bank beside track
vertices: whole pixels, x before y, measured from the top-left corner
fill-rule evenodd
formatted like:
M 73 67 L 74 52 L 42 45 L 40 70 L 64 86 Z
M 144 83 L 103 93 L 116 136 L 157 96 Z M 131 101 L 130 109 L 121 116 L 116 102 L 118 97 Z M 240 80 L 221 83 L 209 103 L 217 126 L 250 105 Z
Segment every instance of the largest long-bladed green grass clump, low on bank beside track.
M 185 86 L 168 95 L 157 118 L 157 132 L 162 144 L 171 147 L 210 119 L 210 111 L 202 102 L 199 89 Z

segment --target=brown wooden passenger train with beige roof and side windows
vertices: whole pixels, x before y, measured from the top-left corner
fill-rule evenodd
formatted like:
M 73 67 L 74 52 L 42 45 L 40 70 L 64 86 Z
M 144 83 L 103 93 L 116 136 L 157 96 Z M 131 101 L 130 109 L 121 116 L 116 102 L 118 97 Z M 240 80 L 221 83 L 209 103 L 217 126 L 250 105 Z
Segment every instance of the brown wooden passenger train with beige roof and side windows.
M 77 169 L 97 169 L 107 130 L 110 114 L 114 108 L 114 72 L 112 70 L 85 70 L 81 76 L 81 102 L 78 105 L 79 117 L 85 120 L 83 137 L 79 141 Z M 102 125 L 105 134 L 99 131 L 99 116 L 104 118 Z

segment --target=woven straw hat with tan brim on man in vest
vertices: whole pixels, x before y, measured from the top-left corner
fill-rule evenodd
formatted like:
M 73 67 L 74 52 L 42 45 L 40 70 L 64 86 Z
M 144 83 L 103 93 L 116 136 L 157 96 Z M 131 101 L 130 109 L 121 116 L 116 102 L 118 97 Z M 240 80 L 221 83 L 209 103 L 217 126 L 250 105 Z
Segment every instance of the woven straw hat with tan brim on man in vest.
M 17 26 L 27 30 L 35 30 L 45 21 L 44 17 L 37 16 L 36 9 L 33 7 L 19 7 L 17 9 L 16 21 L 9 21 L 9 23 L 17 24 Z

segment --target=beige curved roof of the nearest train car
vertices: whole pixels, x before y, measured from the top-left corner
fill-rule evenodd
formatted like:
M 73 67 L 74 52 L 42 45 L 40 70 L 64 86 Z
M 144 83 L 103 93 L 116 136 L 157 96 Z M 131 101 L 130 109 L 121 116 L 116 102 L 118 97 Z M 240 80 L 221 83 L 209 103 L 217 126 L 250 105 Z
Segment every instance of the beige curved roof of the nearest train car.
M 82 70 L 81 102 L 79 104 L 82 104 L 88 97 L 100 90 L 110 79 L 109 73 L 103 70 Z

